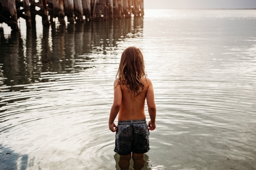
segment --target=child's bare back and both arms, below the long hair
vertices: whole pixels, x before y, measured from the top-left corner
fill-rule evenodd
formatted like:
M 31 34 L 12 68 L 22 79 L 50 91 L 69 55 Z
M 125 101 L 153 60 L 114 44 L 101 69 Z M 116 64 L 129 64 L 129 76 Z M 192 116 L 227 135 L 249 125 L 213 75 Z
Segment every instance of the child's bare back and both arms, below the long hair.
M 136 98 L 132 97 L 131 92 L 125 85 L 117 85 L 118 80 L 117 78 L 114 82 L 114 102 L 111 109 L 112 114 L 110 115 L 110 123 L 112 123 L 112 126 L 110 126 L 110 129 L 115 132 L 113 122 L 118 112 L 118 120 L 145 119 L 144 107 L 146 100 L 148 113 L 151 118 L 150 122 L 148 122 L 148 126 L 150 130 L 154 130 L 156 128 L 156 105 L 151 80 L 144 77 L 141 78 L 140 81 L 144 84 L 145 90 L 142 91 L 142 87 L 140 87 L 142 92 L 140 92 Z

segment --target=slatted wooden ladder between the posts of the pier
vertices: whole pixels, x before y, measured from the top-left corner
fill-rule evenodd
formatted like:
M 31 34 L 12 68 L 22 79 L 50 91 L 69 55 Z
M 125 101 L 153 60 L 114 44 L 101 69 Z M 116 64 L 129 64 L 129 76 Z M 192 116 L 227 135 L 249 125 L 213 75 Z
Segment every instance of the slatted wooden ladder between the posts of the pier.
M 93 18 L 95 20 L 105 20 L 107 16 L 106 12 L 106 0 L 101 0 L 100 3 L 96 3 L 95 5 Z

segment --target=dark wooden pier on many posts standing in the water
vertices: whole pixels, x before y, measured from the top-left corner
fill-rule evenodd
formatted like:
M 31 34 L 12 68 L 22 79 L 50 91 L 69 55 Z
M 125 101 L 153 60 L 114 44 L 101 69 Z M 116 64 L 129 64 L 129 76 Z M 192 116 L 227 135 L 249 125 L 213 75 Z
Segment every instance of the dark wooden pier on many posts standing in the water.
M 91 20 L 111 20 L 144 15 L 144 0 L 0 0 L 0 23 L 18 31 L 18 19 L 35 28 L 36 15 L 49 27 L 58 18 L 61 25 Z

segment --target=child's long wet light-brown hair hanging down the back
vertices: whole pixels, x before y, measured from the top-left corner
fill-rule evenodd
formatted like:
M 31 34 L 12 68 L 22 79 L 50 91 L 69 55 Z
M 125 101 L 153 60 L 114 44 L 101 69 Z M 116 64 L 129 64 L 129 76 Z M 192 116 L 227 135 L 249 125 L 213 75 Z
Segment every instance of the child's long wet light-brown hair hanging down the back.
M 119 68 L 116 77 L 119 78 L 117 85 L 125 85 L 136 98 L 140 92 L 145 90 L 141 81 L 142 77 L 146 78 L 144 59 L 140 48 L 135 46 L 127 47 L 121 56 Z M 140 86 L 142 90 L 140 90 Z

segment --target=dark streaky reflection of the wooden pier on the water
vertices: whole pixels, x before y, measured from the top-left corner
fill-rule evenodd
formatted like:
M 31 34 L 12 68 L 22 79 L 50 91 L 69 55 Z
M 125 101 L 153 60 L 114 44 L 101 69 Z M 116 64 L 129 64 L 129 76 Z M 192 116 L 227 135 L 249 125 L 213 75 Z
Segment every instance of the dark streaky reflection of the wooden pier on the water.
M 2 80 L 7 86 L 54 81 L 42 72 L 66 74 L 94 67 L 97 54 L 115 54 L 126 38 L 142 36 L 143 19 L 86 22 L 75 25 L 11 32 L 1 38 Z M 13 89 L 11 89 L 13 90 Z

